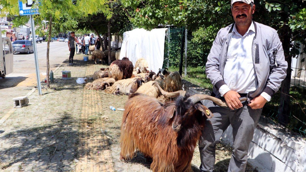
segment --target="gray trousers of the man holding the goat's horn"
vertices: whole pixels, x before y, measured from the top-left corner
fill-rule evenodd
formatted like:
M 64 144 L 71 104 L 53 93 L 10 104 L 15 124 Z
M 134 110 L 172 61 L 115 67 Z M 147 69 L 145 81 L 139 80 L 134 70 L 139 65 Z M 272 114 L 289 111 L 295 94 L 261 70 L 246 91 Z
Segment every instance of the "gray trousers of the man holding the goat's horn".
M 248 148 L 252 141 L 262 109 L 253 110 L 248 102 L 243 107 L 231 110 L 219 107 L 209 101 L 207 107 L 214 117 L 206 121 L 206 126 L 199 140 L 201 172 L 213 172 L 215 165 L 215 149 L 223 132 L 229 125 L 233 127 L 233 152 L 228 172 L 244 172 L 248 159 Z

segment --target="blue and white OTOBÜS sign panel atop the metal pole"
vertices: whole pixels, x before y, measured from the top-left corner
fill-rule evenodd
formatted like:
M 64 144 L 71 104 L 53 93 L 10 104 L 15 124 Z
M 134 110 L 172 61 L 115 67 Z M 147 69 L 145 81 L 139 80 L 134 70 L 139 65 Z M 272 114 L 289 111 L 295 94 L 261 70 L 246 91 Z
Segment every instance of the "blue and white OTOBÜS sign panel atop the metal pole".
M 18 4 L 19 4 L 19 14 L 21 16 L 39 14 L 38 8 L 32 8 L 32 6 L 38 7 L 38 5 L 40 5 L 39 1 L 26 0 L 25 3 L 22 3 L 21 0 L 18 0 Z

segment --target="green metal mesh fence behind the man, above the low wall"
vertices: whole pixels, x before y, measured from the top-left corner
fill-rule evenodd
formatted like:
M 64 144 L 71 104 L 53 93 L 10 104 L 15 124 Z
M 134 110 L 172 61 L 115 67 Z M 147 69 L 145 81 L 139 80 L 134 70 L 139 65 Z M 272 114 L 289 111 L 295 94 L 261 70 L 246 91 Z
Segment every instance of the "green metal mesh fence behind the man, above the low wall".
M 212 84 L 205 74 L 207 56 L 210 52 L 211 41 L 205 41 L 207 35 L 201 31 L 187 32 L 185 28 L 170 27 L 165 40 L 163 68 L 169 71 L 179 71 L 185 83 L 192 84 L 203 90 L 212 91 Z M 301 52 L 304 45 L 301 46 Z M 186 56 L 185 56 L 186 54 Z M 278 112 L 280 92 L 275 93 L 272 100 L 263 108 L 261 121 L 273 125 L 285 132 L 306 136 L 306 62 L 305 54 L 293 58 L 293 69 L 289 114 L 282 114 L 288 119 L 287 124 L 279 125 Z

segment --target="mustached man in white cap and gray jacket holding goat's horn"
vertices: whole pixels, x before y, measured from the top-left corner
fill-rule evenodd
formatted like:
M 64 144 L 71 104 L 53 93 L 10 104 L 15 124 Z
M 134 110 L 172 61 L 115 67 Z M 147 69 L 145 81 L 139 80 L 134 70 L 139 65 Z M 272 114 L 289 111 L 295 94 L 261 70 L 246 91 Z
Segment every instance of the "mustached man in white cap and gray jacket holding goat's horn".
M 254 1 L 232 0 L 231 10 L 235 23 L 220 29 L 206 63 L 207 77 L 214 85 L 212 95 L 228 107 L 207 104 L 214 117 L 207 120 L 199 141 L 201 172 L 214 170 L 215 145 L 229 125 L 233 152 L 228 171 L 245 170 L 262 108 L 286 76 L 288 64 L 277 32 L 252 21 Z

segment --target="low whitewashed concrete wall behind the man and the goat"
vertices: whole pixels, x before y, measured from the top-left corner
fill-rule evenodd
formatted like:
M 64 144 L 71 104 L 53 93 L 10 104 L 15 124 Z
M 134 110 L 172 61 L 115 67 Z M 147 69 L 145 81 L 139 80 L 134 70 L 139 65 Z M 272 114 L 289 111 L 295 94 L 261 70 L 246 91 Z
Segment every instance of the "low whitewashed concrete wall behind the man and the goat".
M 188 84 L 183 88 L 190 95 L 209 94 L 209 90 Z M 221 137 L 230 145 L 233 145 L 232 129 L 230 125 Z M 259 172 L 306 172 L 306 141 L 259 121 L 248 151 L 248 162 Z

